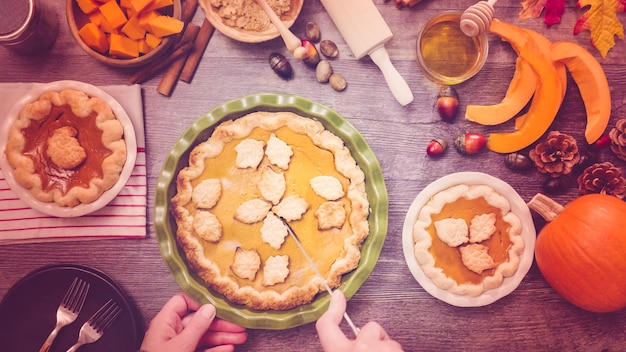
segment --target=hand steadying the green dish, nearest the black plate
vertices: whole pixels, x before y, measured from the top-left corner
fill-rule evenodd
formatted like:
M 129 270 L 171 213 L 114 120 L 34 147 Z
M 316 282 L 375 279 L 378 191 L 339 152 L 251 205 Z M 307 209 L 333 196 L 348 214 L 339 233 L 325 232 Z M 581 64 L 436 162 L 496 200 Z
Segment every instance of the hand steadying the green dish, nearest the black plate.
M 215 307 L 200 306 L 184 293 L 172 297 L 152 319 L 142 352 L 234 351 L 246 341 L 245 329 L 215 319 Z

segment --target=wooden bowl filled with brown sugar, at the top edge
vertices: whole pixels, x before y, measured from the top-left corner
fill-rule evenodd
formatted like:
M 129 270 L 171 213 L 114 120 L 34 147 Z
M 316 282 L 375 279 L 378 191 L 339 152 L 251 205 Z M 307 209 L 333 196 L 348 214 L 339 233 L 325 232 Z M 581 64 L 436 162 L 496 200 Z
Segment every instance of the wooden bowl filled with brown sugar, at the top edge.
M 266 0 L 280 20 L 291 27 L 304 0 Z M 225 36 L 245 43 L 260 43 L 280 35 L 255 0 L 200 0 L 209 22 Z

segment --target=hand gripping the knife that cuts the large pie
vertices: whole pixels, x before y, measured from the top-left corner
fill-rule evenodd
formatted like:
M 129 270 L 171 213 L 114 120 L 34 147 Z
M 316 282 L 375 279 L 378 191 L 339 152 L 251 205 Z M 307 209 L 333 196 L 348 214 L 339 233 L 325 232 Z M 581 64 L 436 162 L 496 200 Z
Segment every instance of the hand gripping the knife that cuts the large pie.
M 324 313 L 315 328 L 319 335 L 324 351 L 351 352 L 400 352 L 402 346 L 392 340 L 387 332 L 376 322 L 365 324 L 355 340 L 350 340 L 339 328 L 339 324 L 346 312 L 346 296 L 340 290 L 335 290 L 330 298 L 328 311 Z

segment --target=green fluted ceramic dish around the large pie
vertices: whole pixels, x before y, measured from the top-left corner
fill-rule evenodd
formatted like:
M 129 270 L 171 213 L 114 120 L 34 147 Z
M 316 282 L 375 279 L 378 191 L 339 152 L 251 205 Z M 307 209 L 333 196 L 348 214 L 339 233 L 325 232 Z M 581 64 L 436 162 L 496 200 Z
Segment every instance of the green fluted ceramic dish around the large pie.
M 359 132 L 333 110 L 299 96 L 255 94 L 231 100 L 200 117 L 183 133 L 167 156 L 156 185 L 154 226 L 163 259 L 182 290 L 198 302 L 215 305 L 218 317 L 246 328 L 289 329 L 317 320 L 328 307 L 328 294 L 320 293 L 311 303 L 286 311 L 257 311 L 228 302 L 220 294 L 206 288 L 202 280 L 188 268 L 185 254 L 176 243 L 176 222 L 168 210 L 170 200 L 176 194 L 176 176 L 182 168 L 188 166 L 190 151 L 206 141 L 221 121 L 236 119 L 254 111 L 289 111 L 317 119 L 326 129 L 343 139 L 365 173 L 370 203 L 370 234 L 361 246 L 358 267 L 341 280 L 340 289 L 348 298 L 361 287 L 378 261 L 387 235 L 389 201 L 380 164 Z

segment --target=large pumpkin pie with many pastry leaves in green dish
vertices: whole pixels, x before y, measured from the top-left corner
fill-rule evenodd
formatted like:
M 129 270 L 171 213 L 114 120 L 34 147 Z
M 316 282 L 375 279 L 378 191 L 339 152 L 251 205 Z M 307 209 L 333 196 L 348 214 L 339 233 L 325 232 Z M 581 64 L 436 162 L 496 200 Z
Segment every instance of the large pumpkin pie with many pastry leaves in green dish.
M 170 210 L 190 269 L 256 310 L 292 309 L 325 290 L 283 220 L 331 287 L 358 266 L 369 233 L 365 176 L 350 150 L 291 112 L 218 125 L 178 173 Z

